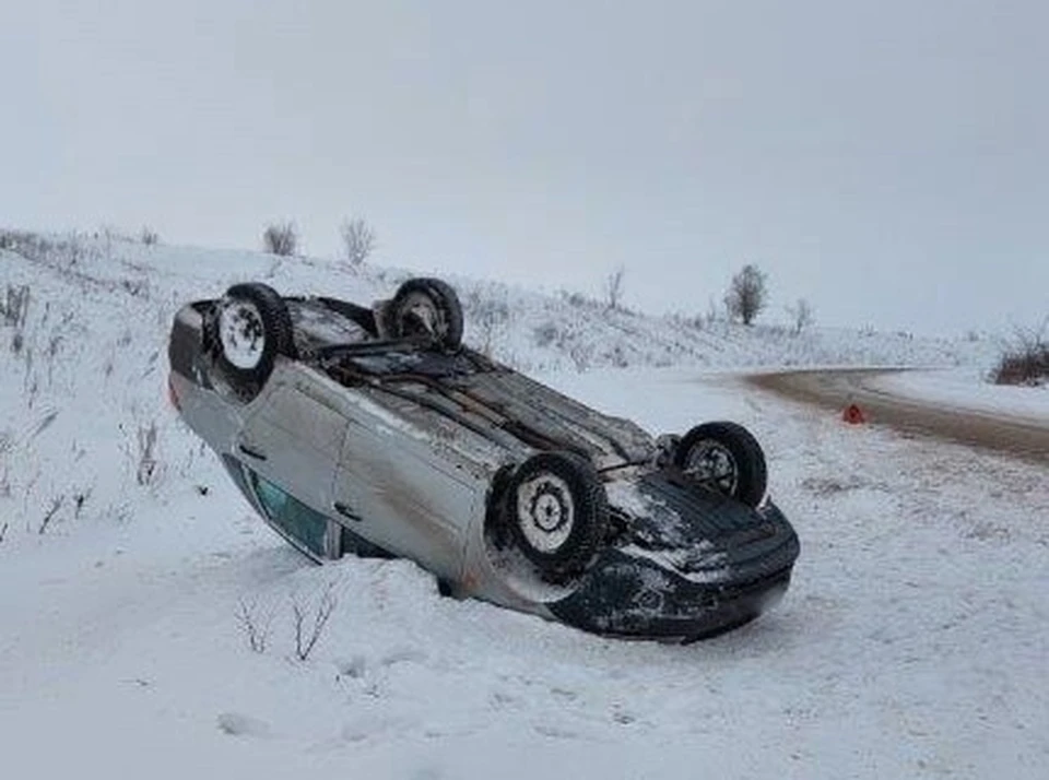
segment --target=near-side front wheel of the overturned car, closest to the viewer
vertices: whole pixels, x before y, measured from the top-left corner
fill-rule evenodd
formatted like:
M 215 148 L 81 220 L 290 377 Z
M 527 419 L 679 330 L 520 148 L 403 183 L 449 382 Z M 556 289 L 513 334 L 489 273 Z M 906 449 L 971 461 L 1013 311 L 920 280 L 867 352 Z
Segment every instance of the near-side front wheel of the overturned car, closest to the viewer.
M 503 520 L 521 553 L 552 581 L 581 574 L 609 528 L 604 486 L 589 461 L 540 452 L 514 472 Z

